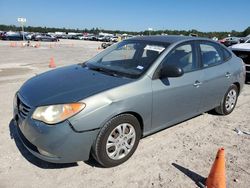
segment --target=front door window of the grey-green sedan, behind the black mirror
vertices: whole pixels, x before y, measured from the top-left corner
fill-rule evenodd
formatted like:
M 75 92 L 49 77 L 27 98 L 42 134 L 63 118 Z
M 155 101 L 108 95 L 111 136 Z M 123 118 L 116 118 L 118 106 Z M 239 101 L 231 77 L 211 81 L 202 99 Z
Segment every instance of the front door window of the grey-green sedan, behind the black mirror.
M 194 55 L 194 47 L 191 44 L 183 44 L 176 47 L 167 55 L 165 63 L 177 65 L 184 72 L 190 72 L 198 68 Z

